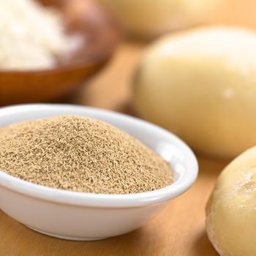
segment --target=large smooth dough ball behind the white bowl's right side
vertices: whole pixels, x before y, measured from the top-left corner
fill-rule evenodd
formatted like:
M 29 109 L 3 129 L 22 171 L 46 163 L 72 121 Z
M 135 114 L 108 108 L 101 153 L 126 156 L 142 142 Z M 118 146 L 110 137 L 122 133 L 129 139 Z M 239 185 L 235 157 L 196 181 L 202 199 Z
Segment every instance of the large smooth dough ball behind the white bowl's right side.
M 255 32 L 210 27 L 159 39 L 136 72 L 135 105 L 198 151 L 230 158 L 255 146 Z

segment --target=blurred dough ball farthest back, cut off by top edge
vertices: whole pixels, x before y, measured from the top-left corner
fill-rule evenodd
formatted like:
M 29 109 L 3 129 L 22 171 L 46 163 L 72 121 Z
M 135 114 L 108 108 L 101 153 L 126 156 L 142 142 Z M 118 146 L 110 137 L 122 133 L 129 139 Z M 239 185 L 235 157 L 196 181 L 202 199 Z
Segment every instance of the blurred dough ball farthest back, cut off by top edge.
M 155 37 L 202 23 L 220 0 L 100 0 L 129 34 Z

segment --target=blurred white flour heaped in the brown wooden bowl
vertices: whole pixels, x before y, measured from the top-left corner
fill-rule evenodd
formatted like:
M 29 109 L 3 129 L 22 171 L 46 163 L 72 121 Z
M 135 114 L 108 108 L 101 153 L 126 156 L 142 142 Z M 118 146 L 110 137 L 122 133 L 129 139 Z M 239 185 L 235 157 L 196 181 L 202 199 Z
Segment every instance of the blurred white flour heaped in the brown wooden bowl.
M 35 0 L 0 1 L 0 69 L 48 69 L 58 56 L 78 48 L 67 36 L 61 12 Z

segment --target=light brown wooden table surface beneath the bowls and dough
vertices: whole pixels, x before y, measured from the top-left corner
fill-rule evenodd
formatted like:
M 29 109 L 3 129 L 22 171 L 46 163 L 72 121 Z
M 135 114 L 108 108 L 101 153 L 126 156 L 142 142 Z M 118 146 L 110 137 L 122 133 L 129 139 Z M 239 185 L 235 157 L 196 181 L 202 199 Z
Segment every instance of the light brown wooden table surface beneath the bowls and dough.
M 255 0 L 229 0 L 211 22 L 256 27 Z M 124 42 L 110 64 L 69 102 L 131 113 L 132 72 L 144 43 Z M 219 172 L 228 161 L 199 156 L 195 185 L 151 222 L 132 233 L 103 241 L 77 242 L 36 233 L 0 211 L 0 256 L 171 255 L 214 256 L 205 231 L 205 205 Z

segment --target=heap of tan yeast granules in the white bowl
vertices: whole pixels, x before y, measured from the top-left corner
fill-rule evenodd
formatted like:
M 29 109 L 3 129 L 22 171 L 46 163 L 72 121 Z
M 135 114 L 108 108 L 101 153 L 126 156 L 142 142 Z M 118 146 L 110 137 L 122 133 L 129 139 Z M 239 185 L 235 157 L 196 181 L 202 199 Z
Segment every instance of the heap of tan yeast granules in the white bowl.
M 110 124 L 81 116 L 1 128 L 0 170 L 75 192 L 138 193 L 173 182 L 170 165 L 150 148 Z

